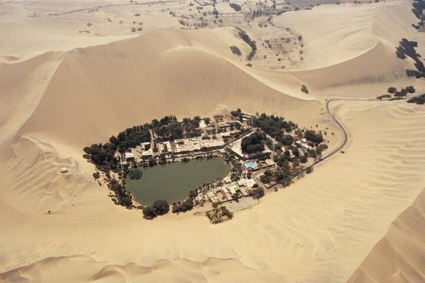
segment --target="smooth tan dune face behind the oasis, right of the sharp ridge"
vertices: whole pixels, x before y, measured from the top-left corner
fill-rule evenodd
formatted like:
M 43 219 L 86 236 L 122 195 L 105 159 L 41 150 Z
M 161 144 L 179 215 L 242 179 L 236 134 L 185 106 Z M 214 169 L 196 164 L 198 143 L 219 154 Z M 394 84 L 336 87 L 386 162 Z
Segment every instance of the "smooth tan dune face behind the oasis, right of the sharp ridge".
M 20 133 L 84 146 L 153 117 L 207 115 L 228 106 L 255 113 L 263 105 L 313 122 L 318 110 L 309 118 L 297 109 L 317 102 L 285 96 L 227 60 L 229 46 L 242 45 L 234 33 L 160 32 L 68 52 Z

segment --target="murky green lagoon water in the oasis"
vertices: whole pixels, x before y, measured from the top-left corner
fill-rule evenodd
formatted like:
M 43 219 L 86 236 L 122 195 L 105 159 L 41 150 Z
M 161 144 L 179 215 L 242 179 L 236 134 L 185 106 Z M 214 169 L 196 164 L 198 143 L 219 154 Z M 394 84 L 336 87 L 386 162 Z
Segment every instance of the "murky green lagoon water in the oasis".
M 197 189 L 203 183 L 226 177 L 230 172 L 230 165 L 223 164 L 223 158 L 214 157 L 140 169 L 143 171 L 143 177 L 139 180 L 127 177 L 127 188 L 137 202 L 151 205 L 158 199 L 165 199 L 170 204 L 185 199 L 191 190 Z

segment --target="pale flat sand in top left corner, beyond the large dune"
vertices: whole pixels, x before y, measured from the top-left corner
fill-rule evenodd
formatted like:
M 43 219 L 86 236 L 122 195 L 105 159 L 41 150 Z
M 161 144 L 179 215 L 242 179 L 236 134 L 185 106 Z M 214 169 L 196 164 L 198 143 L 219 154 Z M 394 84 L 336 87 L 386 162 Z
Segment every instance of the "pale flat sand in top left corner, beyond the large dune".
M 114 3 L 115 1 L 112 1 Z M 115 2 L 117 4 L 118 2 Z M 47 16 L 65 10 L 106 6 L 103 1 L 3 1 L 0 3 L 0 62 L 21 62 L 49 51 L 68 51 L 134 37 L 124 32 L 113 36 L 81 33 L 87 23 L 101 16 L 86 14 L 69 18 Z M 43 15 L 43 17 L 41 17 Z M 106 16 L 107 17 L 107 16 Z

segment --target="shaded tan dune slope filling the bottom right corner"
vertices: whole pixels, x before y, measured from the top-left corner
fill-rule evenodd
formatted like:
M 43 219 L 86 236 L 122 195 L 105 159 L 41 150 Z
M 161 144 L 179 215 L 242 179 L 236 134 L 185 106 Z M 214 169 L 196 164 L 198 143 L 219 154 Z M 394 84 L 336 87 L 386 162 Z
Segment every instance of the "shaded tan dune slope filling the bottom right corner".
M 425 278 L 425 190 L 391 223 L 349 282 L 422 282 Z

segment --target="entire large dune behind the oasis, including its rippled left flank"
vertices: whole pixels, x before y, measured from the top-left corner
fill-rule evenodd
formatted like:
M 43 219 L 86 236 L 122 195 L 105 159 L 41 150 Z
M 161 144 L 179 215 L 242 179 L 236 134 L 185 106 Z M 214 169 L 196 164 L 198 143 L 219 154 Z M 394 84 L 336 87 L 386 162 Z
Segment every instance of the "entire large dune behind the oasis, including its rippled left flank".
M 229 46 L 241 42 L 232 28 L 159 32 L 3 63 L 0 155 L 11 192 L 4 204 L 20 202 L 27 192 L 27 205 L 40 213 L 74 205 L 69 198 L 91 182 L 83 177 L 93 170 L 82 159 L 84 146 L 167 114 L 243 107 L 306 125 L 326 119 L 319 102 L 279 93 L 231 64 Z M 61 175 L 61 167 L 71 174 Z M 12 210 L 25 214 L 27 205 Z

